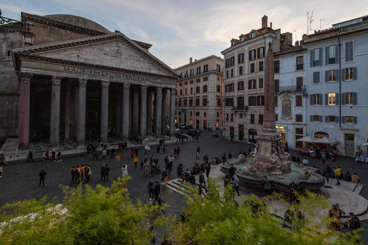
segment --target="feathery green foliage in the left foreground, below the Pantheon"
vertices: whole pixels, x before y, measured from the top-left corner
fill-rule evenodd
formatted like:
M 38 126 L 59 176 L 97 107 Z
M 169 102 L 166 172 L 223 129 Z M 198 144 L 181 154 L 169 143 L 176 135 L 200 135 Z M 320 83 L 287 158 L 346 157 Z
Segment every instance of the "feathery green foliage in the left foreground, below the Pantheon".
M 132 205 L 128 179 L 119 178 L 111 188 L 85 185 L 83 192 L 82 185 L 62 187 L 62 205 L 45 197 L 3 206 L 0 244 L 149 244 L 152 207 Z

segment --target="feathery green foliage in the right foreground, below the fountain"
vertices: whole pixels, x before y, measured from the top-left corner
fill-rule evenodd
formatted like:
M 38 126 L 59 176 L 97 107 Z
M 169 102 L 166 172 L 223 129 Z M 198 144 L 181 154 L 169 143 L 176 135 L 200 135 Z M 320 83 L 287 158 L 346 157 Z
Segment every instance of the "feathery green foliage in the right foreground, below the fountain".
M 270 213 L 265 203 L 251 195 L 247 202 L 234 205 L 232 188 L 223 190 L 214 180 L 208 180 L 209 195 L 201 198 L 193 188 L 183 218 L 161 217 L 156 225 L 173 231 L 176 244 L 355 244 L 357 235 L 338 234 L 327 229 L 322 196 L 306 193 L 298 196 L 300 203 L 291 205 L 293 228 L 282 228 L 281 219 Z M 273 198 L 283 200 L 282 195 Z M 255 211 L 257 210 L 257 211 Z M 327 209 L 328 210 L 328 209 Z M 297 215 L 298 211 L 301 216 Z

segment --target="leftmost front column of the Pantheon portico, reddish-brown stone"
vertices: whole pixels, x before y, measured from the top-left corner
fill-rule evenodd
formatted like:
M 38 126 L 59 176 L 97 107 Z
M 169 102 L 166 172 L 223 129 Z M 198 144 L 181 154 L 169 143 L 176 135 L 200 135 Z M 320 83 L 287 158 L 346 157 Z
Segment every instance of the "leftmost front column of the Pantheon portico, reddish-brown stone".
M 31 78 L 33 77 L 33 74 L 17 71 L 17 75 L 21 84 L 17 148 L 17 151 L 20 152 L 29 149 L 29 107 L 31 96 Z

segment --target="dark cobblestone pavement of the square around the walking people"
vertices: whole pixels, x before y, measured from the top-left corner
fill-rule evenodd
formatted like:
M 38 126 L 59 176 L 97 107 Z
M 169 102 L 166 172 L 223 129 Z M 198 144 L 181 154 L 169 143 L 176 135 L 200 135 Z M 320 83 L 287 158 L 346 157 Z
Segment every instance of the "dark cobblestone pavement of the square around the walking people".
M 194 139 L 195 141 L 195 139 Z M 160 154 L 156 154 L 155 147 L 151 148 L 150 156 L 153 154 L 159 157 L 160 166 L 164 166 L 164 157 L 166 155 L 173 154 L 174 147 L 180 146 L 180 157 L 174 160 L 173 163 L 173 174 L 169 176 L 168 180 L 171 180 L 176 177 L 176 166 L 179 163 L 182 163 L 184 169 L 192 168 L 194 166 L 195 153 L 196 149 L 199 146 L 201 148 L 201 157 L 204 154 L 208 154 L 209 159 L 212 157 L 220 157 L 222 153 L 229 151 L 233 156 L 238 156 L 238 153 L 241 150 L 245 150 L 248 152 L 248 148 L 254 148 L 254 145 L 234 142 L 230 143 L 229 140 L 223 138 L 212 138 L 210 133 L 206 133 L 199 137 L 199 141 L 186 143 L 185 145 L 170 145 L 166 146 L 166 154 L 163 154 L 162 149 Z M 291 151 L 291 155 L 296 154 L 296 152 Z M 98 160 L 92 161 L 92 156 L 79 156 L 79 157 L 66 157 L 63 158 L 61 162 L 31 162 L 31 163 L 18 163 L 18 164 L 8 164 L 4 166 L 3 177 L 0 178 L 0 205 L 3 206 L 5 203 L 13 202 L 17 200 L 24 200 L 30 198 L 39 199 L 44 195 L 49 196 L 51 199 L 53 196 L 57 196 L 59 201 L 61 201 L 63 194 L 61 189 L 58 187 L 59 184 L 69 185 L 71 187 L 75 186 L 75 184 L 71 184 L 71 175 L 70 175 L 70 167 L 77 166 L 80 164 L 90 164 L 92 167 L 92 177 L 89 184 L 92 187 L 95 187 L 96 184 L 102 184 L 104 186 L 109 186 L 114 178 L 120 177 L 121 175 L 121 166 L 122 164 L 128 165 L 128 174 L 132 177 L 130 181 L 127 183 L 127 188 L 130 193 L 130 197 L 132 201 L 140 199 L 142 201 L 148 201 L 148 191 L 147 184 L 149 180 L 159 182 L 161 181 L 160 175 L 155 175 L 154 177 L 145 177 L 142 170 L 134 169 L 134 165 L 130 160 L 130 151 L 129 149 L 124 150 L 123 153 L 120 152 L 121 163 L 120 167 L 117 168 L 115 166 L 114 159 L 102 160 L 102 155 L 99 155 Z M 138 153 L 139 162 L 144 159 L 144 150 L 140 149 Z M 300 156 L 301 159 L 304 156 Z M 322 160 L 313 159 L 307 156 L 309 160 L 308 166 L 317 166 L 322 171 Z M 328 160 L 329 162 L 329 160 Z M 110 173 L 109 173 L 109 182 L 100 181 L 99 168 L 102 163 L 109 164 Z M 339 157 L 337 156 L 337 165 L 342 167 L 343 173 L 346 171 L 350 171 L 350 173 L 357 173 L 360 177 L 360 184 L 367 183 L 368 176 L 368 164 L 355 163 L 353 158 L 350 157 Z M 47 172 L 45 187 L 38 187 L 39 181 L 39 171 L 41 168 L 44 168 Z M 19 174 L 17 174 L 19 172 Z M 334 182 L 336 180 L 331 180 L 330 182 Z M 368 199 L 368 189 L 363 187 L 361 191 L 361 195 Z M 185 206 L 185 199 L 182 195 L 177 192 L 172 192 L 168 188 L 164 188 L 161 186 L 160 197 L 170 205 L 170 207 L 165 211 L 170 214 L 180 214 L 181 210 Z M 367 222 L 362 222 L 363 227 L 368 227 Z M 368 229 L 366 229 L 368 230 Z M 158 230 L 158 237 L 162 233 L 162 231 Z M 363 234 L 364 242 L 368 241 L 368 232 L 364 232 Z

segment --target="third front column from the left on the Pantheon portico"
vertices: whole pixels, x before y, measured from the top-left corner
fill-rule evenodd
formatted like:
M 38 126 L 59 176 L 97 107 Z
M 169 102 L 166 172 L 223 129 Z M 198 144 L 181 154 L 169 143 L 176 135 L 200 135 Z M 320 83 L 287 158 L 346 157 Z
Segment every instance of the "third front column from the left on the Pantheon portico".
M 77 148 L 86 146 L 86 85 L 86 79 L 78 79 Z

